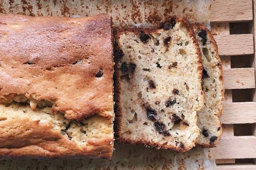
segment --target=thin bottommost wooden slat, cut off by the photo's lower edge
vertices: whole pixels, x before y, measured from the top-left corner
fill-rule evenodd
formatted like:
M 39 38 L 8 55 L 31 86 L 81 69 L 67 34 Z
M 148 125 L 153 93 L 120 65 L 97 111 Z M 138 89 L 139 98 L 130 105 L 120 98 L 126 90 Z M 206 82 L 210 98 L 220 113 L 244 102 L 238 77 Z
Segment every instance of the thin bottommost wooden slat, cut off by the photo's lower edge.
M 256 164 L 254 163 L 236 163 L 232 165 L 217 165 L 217 170 L 255 170 Z

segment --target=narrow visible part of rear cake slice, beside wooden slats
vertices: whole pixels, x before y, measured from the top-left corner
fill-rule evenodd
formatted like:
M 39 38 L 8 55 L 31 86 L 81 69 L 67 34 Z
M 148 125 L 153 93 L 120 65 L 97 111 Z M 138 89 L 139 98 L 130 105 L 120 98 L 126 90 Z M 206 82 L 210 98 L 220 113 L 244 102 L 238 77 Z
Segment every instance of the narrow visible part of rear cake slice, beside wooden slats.
M 198 112 L 197 125 L 201 129 L 201 137 L 197 139 L 196 144 L 214 147 L 222 136 L 222 126 L 219 120 L 225 91 L 222 62 L 218 55 L 217 43 L 211 32 L 199 23 L 195 23 L 193 28 L 202 52 L 202 89 L 205 94 L 205 107 Z

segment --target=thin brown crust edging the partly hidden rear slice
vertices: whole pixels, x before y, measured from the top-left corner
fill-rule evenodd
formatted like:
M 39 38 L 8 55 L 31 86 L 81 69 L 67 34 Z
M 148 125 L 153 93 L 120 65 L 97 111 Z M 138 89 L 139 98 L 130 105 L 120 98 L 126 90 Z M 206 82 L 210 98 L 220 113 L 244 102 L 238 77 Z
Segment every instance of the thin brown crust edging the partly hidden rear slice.
M 224 94 L 225 94 L 225 87 L 224 87 L 224 83 L 223 83 L 223 67 L 222 67 L 222 61 L 219 57 L 219 54 L 218 54 L 218 45 L 214 39 L 214 36 L 212 35 L 211 31 L 206 28 L 204 25 L 200 24 L 200 23 L 194 23 L 193 24 L 193 27 L 195 29 L 199 28 L 199 29 L 204 29 L 206 30 L 207 32 L 207 36 L 208 36 L 208 39 L 211 41 L 211 44 L 214 46 L 214 51 L 215 51 L 215 58 L 217 59 L 218 61 L 218 68 L 219 68 L 219 80 L 222 84 L 222 95 L 221 95 L 221 101 L 220 101 L 220 107 L 219 107 L 219 112 L 215 114 L 215 116 L 219 117 L 221 116 L 222 114 L 222 110 L 223 110 L 223 101 L 224 101 Z M 220 135 L 217 136 L 217 139 L 212 142 L 212 143 L 199 143 L 199 142 L 196 142 L 196 145 L 197 146 L 201 146 L 201 147 L 216 147 L 217 143 L 219 142 L 221 136 L 222 136 L 222 124 L 221 122 L 219 123 L 218 125 L 220 127 Z

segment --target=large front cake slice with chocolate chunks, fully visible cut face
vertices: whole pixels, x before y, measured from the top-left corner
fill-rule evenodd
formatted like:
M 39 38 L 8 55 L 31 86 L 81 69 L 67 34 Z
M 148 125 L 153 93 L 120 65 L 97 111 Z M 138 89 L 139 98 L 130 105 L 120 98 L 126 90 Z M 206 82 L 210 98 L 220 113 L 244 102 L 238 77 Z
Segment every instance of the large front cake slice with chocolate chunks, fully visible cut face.
M 186 19 L 161 28 L 119 29 L 115 37 L 115 134 L 118 141 L 185 152 L 200 134 L 204 107 L 201 52 Z

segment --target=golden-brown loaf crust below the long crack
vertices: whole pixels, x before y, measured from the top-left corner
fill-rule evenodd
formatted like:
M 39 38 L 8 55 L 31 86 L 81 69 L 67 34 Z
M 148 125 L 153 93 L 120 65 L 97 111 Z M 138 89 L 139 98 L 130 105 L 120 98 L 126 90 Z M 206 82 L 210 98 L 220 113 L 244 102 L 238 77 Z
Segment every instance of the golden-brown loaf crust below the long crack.
M 8 130 L 6 130 L 8 129 Z M 28 118 L 0 124 L 0 158 L 111 158 L 113 138 L 91 139 L 87 145 L 70 141 L 67 135 Z M 112 142 L 113 143 L 113 142 Z

